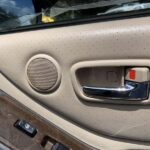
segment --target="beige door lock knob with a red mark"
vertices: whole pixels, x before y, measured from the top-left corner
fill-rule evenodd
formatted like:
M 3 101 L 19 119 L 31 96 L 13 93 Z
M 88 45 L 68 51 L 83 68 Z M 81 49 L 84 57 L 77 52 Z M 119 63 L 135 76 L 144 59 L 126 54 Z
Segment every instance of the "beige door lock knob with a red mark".
M 147 67 L 128 68 L 125 79 L 133 82 L 148 82 L 150 81 L 150 70 Z

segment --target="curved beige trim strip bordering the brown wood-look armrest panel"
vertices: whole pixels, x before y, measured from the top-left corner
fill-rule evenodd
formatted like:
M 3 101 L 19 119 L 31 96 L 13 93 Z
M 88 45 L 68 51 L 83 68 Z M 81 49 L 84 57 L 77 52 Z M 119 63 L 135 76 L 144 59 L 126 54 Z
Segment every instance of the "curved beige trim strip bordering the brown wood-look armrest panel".
M 13 97 L 12 100 L 19 102 L 35 114 L 41 116 L 43 119 L 46 119 L 50 124 L 52 123 L 59 129 L 72 135 L 74 138 L 92 146 L 93 149 L 150 149 L 149 142 L 137 142 L 99 136 L 59 117 L 52 111 L 47 110 L 29 98 L 26 94 L 16 88 L 10 81 L 8 81 L 8 79 L 2 74 L 0 74 L 0 83 L 0 89 Z

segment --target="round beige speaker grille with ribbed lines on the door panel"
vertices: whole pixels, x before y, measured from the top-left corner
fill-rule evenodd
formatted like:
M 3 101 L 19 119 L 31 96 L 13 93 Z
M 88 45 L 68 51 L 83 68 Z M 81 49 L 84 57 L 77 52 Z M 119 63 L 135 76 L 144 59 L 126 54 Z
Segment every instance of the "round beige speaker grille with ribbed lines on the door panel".
M 40 92 L 51 91 L 58 80 L 58 71 L 53 62 L 46 58 L 36 58 L 27 67 L 31 86 Z

